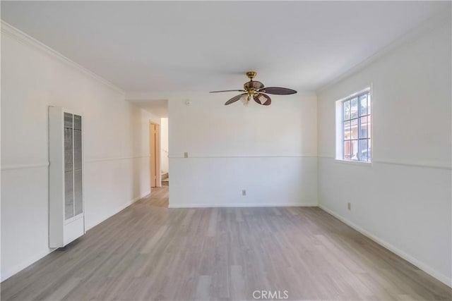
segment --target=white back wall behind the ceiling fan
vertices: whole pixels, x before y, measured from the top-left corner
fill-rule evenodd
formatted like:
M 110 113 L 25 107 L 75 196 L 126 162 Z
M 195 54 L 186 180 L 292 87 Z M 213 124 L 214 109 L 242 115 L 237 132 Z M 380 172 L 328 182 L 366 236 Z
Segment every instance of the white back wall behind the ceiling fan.
M 316 95 L 225 106 L 232 96 L 169 97 L 169 206 L 315 206 Z

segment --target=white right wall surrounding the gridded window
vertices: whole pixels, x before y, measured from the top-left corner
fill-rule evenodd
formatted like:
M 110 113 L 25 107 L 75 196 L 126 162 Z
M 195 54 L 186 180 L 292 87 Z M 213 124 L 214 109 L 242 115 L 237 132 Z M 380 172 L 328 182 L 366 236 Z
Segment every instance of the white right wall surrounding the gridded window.
M 374 163 L 335 161 L 335 101 L 370 84 Z M 318 97 L 321 207 L 451 285 L 450 16 Z

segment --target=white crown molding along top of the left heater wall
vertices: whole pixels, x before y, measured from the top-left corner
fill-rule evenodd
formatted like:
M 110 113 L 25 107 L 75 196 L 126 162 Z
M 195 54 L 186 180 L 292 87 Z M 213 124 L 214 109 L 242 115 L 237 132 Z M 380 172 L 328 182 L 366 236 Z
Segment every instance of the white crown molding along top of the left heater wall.
M 93 73 L 93 71 L 88 70 L 87 68 L 72 61 L 71 59 L 67 58 L 66 56 L 59 53 L 58 51 L 48 47 L 46 44 L 44 44 L 40 41 L 38 41 L 34 37 L 31 37 L 30 35 L 27 35 L 25 32 L 14 27 L 13 25 L 6 23 L 4 20 L 1 20 L 1 35 L 8 35 L 8 37 L 12 37 L 13 39 L 16 39 L 16 41 L 18 41 L 18 42 L 26 44 L 30 47 L 34 47 L 35 49 L 39 49 L 40 51 L 43 51 L 45 54 L 51 56 L 53 59 L 56 59 L 57 61 L 60 61 L 61 63 L 65 63 L 67 66 L 70 66 L 71 68 L 78 70 L 83 75 L 88 76 L 88 78 L 97 80 L 97 82 L 100 82 L 103 85 L 106 85 L 107 87 L 111 88 L 112 90 L 115 90 L 123 95 L 126 94 L 126 92 L 124 90 L 117 87 L 116 85 L 113 85 L 112 82 L 109 82 L 105 78 L 102 78 L 100 75 Z

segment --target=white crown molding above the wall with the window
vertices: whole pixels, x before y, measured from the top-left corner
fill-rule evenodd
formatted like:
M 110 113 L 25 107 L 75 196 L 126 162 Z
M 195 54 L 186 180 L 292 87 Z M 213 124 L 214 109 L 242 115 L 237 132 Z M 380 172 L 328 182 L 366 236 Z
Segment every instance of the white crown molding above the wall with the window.
M 428 18 L 427 20 L 425 20 L 423 23 L 421 23 L 417 27 L 414 27 L 412 30 L 410 30 L 410 31 L 406 32 L 405 34 L 401 35 L 400 37 L 398 37 L 396 40 L 394 40 L 393 42 L 388 44 L 386 47 L 383 47 L 383 49 L 376 51 L 375 54 L 372 54 L 371 56 L 369 56 L 367 59 L 365 59 L 361 63 L 357 63 L 357 65 L 348 69 L 342 75 L 339 75 L 338 77 L 334 78 L 333 80 L 327 82 L 325 85 L 321 85 L 318 89 L 316 89 L 316 93 L 319 94 L 319 92 L 323 92 L 324 90 L 327 90 L 328 88 L 332 87 L 333 85 L 337 84 L 338 82 L 341 82 L 341 81 L 345 80 L 346 78 L 350 77 L 350 75 L 357 73 L 360 70 L 371 65 L 371 63 L 378 61 L 383 56 L 390 54 L 391 52 L 395 51 L 399 47 L 402 47 L 403 45 L 414 41 L 421 35 L 426 34 L 427 32 L 430 32 L 430 31 L 434 30 L 435 28 L 439 27 L 440 25 L 443 25 L 447 22 L 448 23 L 451 22 L 450 11 L 444 11 L 435 16 L 432 16 L 431 18 Z

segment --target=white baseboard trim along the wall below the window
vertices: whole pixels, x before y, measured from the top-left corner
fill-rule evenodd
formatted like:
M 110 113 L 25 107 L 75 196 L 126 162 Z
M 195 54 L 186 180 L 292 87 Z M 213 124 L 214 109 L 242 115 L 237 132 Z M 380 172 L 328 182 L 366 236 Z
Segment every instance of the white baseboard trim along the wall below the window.
M 412 257 L 410 254 L 407 254 L 407 253 L 403 252 L 402 250 L 399 250 L 397 247 L 394 247 L 390 243 L 382 240 L 381 238 L 375 236 L 372 233 L 369 233 L 368 231 L 364 230 L 363 228 L 357 226 L 355 223 L 352 223 L 348 219 L 345 219 L 345 217 L 340 216 L 339 214 L 335 213 L 331 209 L 328 209 L 327 207 L 325 207 L 325 206 L 323 206 L 321 204 L 319 204 L 319 208 L 321 208 L 323 211 L 328 212 L 328 214 L 331 214 L 336 219 L 338 219 L 338 220 L 342 221 L 343 223 L 345 223 L 347 226 L 350 226 L 350 227 L 354 228 L 356 231 L 358 231 L 362 235 L 366 236 L 367 238 L 373 240 L 374 242 L 378 243 L 379 245 L 381 245 L 381 246 L 385 247 L 386 249 L 390 250 L 394 254 L 402 257 L 407 262 L 410 262 L 410 264 L 414 264 L 419 269 L 422 269 L 422 271 L 424 271 L 425 273 L 429 274 L 433 278 L 436 278 L 438 281 L 441 281 L 442 283 L 444 283 L 444 284 L 446 284 L 446 285 L 448 285 L 449 287 L 452 288 L 452 278 L 448 278 L 444 274 L 439 273 L 439 271 L 436 271 L 436 270 L 432 269 L 431 267 L 429 267 L 424 262 L 421 262 L 420 260 L 415 259 L 415 257 Z

